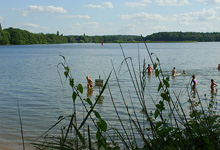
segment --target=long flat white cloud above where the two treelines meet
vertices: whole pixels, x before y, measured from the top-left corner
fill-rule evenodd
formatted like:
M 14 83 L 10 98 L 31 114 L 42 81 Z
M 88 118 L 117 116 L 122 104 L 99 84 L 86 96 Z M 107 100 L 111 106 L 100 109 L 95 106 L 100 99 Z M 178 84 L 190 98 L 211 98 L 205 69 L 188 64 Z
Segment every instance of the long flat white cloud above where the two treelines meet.
M 169 18 L 163 17 L 160 14 L 149 14 L 145 12 L 141 12 L 139 14 L 133 14 L 133 15 L 119 15 L 118 16 L 121 19 L 133 19 L 137 21 L 168 21 Z

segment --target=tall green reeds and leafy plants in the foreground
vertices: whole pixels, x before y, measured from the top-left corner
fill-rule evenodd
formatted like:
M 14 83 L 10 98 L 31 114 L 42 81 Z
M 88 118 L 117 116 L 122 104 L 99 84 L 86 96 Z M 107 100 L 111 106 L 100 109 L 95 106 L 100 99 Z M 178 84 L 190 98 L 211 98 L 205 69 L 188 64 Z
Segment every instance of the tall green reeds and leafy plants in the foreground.
M 159 58 L 157 58 L 155 54 L 150 53 L 146 43 L 144 44 L 154 66 L 155 76 L 159 81 L 157 88 L 159 100 L 154 100 L 153 98 L 146 99 L 145 97 L 145 80 L 147 76 L 145 73 L 145 61 L 142 65 L 139 61 L 139 73 L 137 73 L 132 63 L 132 58 L 125 56 L 122 47 L 121 50 L 124 57 L 123 64 L 127 67 L 131 84 L 136 93 L 136 98 L 134 98 L 133 95 L 130 96 L 131 100 L 129 101 L 131 101 L 131 104 L 129 104 L 131 106 L 129 106 L 127 103 L 128 100 L 124 97 L 125 93 L 122 92 L 123 90 L 121 89 L 113 63 L 113 69 L 109 73 L 99 96 L 93 103 L 90 98 L 82 97 L 82 93 L 84 92 L 83 86 L 81 84 L 75 85 L 67 60 L 64 56 L 61 56 L 63 62 L 58 64 L 58 68 L 61 67 L 64 69 L 64 77 L 72 88 L 73 112 L 69 116 L 59 118 L 59 121 L 42 135 L 44 136 L 43 140 L 34 141 L 32 144 L 39 150 L 220 149 L 220 119 L 216 101 L 217 91 L 210 101 L 202 99 L 206 101 L 207 105 L 205 106 L 201 102 L 202 100 L 199 97 L 198 91 L 196 99 L 188 94 L 190 111 L 186 113 L 181 104 L 179 95 L 175 92 L 171 94 L 173 91 L 170 91 L 169 76 L 163 74 Z M 117 80 L 121 99 L 126 108 L 124 111 L 129 118 L 126 122 L 120 117 L 117 105 L 114 102 L 114 93 L 111 93 L 111 87 L 108 85 L 109 78 L 113 75 Z M 189 87 L 187 86 L 186 88 L 187 91 L 189 91 Z M 118 119 L 121 129 L 112 126 L 111 122 L 105 120 L 95 109 L 96 104 L 105 90 L 108 90 L 110 94 L 112 105 L 118 117 L 116 119 Z M 154 111 L 149 111 L 146 104 L 147 100 L 153 101 L 155 106 Z M 81 121 L 77 119 L 76 101 L 80 101 L 86 111 L 86 115 L 83 116 Z M 138 101 L 142 110 L 136 110 L 132 105 L 132 101 Z M 141 120 L 138 118 L 139 113 L 144 116 L 142 121 L 147 123 L 146 126 L 141 124 Z M 82 118 L 82 116 L 80 117 Z M 61 129 L 60 136 L 48 136 L 50 130 L 58 124 L 61 124 L 64 120 L 68 123 Z M 86 122 L 89 120 L 91 123 L 86 125 Z M 91 127 L 93 128 L 93 132 L 95 129 L 95 134 L 91 134 Z

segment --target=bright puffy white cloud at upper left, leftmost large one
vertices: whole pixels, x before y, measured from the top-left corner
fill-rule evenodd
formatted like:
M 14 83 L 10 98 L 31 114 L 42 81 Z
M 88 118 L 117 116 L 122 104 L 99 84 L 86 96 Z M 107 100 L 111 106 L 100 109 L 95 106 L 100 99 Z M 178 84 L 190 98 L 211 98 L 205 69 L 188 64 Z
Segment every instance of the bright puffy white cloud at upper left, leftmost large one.
M 25 8 L 23 11 L 23 16 L 27 16 L 29 13 L 67 13 L 67 10 L 65 10 L 62 7 L 54 7 L 54 6 L 36 6 L 36 5 L 30 5 L 27 8 Z

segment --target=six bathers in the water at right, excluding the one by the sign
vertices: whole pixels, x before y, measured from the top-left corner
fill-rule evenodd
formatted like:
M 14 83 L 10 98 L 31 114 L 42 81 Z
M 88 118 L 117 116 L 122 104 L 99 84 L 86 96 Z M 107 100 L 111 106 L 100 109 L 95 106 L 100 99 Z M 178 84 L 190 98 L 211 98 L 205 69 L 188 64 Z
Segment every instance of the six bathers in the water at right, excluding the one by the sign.
M 218 69 L 220 70 L 220 64 L 218 64 Z M 148 67 L 146 68 L 145 72 L 147 72 L 148 74 L 151 74 L 152 73 L 152 70 L 153 68 L 150 66 L 150 64 L 148 64 Z M 176 70 L 176 67 L 173 67 L 173 70 L 172 70 L 172 76 L 176 76 L 178 74 L 177 70 Z M 187 74 L 186 73 L 186 70 L 183 70 L 183 74 Z M 196 85 L 198 85 L 198 82 L 196 80 L 196 76 L 195 75 L 192 75 L 192 80 L 190 82 L 190 85 L 192 87 L 192 90 L 196 90 Z M 211 92 L 215 92 L 215 87 L 217 86 L 217 84 L 215 83 L 214 79 L 211 79 L 211 85 L 210 85 L 210 89 L 211 89 Z

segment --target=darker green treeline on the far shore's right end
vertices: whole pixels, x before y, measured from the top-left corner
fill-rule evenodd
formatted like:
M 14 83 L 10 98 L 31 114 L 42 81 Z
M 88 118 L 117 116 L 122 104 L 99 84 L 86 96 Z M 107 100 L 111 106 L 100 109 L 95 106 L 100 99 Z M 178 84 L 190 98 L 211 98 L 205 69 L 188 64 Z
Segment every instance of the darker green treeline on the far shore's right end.
M 197 41 L 219 42 L 220 32 L 159 32 L 145 37 L 146 41 Z

